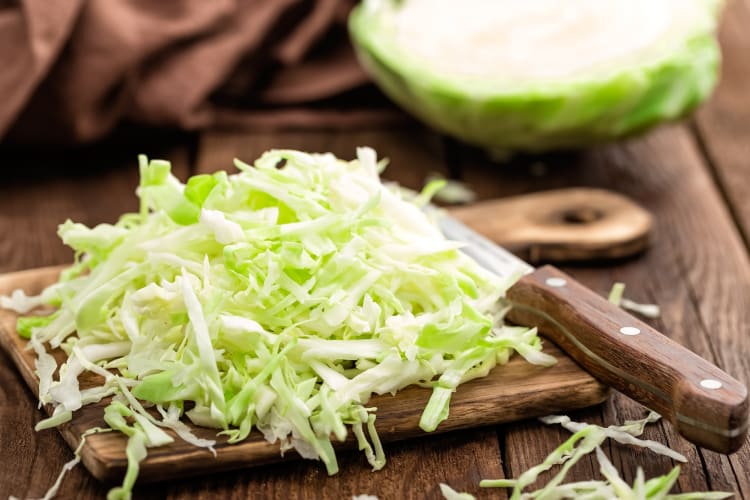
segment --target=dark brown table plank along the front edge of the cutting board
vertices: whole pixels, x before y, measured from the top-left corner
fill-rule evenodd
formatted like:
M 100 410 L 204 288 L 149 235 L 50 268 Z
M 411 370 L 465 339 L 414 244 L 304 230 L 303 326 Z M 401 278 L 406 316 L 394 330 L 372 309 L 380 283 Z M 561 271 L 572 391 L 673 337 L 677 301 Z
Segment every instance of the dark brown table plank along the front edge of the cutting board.
M 486 460 L 487 434 L 482 429 L 418 439 L 388 446 L 388 463 L 373 472 L 359 452 L 340 456 L 342 472 L 326 476 L 320 464 L 301 460 L 280 465 L 225 472 L 192 481 L 155 483 L 136 488 L 134 498 L 200 499 L 289 498 L 295 500 L 349 499 L 377 495 L 387 499 L 442 498 L 439 482 L 471 491 L 479 499 L 500 498 L 480 490 L 481 478 L 500 470 L 497 457 Z M 415 460 L 415 455 L 424 460 Z

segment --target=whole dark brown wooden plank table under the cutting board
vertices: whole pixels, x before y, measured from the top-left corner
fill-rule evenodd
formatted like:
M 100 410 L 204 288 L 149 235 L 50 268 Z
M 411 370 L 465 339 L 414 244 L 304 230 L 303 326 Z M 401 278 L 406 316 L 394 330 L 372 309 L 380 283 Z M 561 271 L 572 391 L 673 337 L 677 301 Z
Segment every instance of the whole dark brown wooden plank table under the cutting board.
M 661 127 L 645 137 L 575 154 L 518 157 L 492 164 L 405 121 L 388 128 L 349 131 L 205 132 L 157 140 L 110 141 L 75 151 L 2 150 L 0 169 L 0 271 L 65 263 L 71 254 L 55 236 L 58 223 L 113 221 L 136 208 L 136 153 L 174 163 L 191 173 L 231 168 L 233 157 L 252 161 L 272 147 L 332 151 L 354 156 L 359 145 L 391 159 L 387 177 L 418 188 L 430 172 L 458 178 L 481 198 L 565 186 L 596 186 L 631 196 L 655 216 L 652 248 L 643 256 L 566 270 L 606 293 L 614 281 L 627 296 L 655 302 L 662 316 L 652 324 L 745 384 L 750 383 L 750 1 L 728 4 L 721 41 L 725 64 L 713 99 L 690 121 Z M 34 432 L 42 417 L 34 395 L 9 359 L 0 354 L 0 496 L 38 497 L 72 457 L 56 431 Z M 614 395 L 607 403 L 572 412 L 598 424 L 638 418 L 643 410 Z M 483 478 L 517 477 L 542 461 L 568 433 L 537 421 L 480 428 L 390 444 L 388 465 L 373 473 L 357 452 L 340 456 L 341 473 L 328 477 L 315 462 L 264 466 L 189 480 L 143 485 L 136 498 L 438 498 L 438 483 L 479 498 L 504 498 L 480 490 Z M 665 423 L 646 438 L 688 457 L 675 491 L 726 490 L 750 498 L 750 441 L 732 456 L 698 449 Z M 638 466 L 646 477 L 666 473 L 671 460 L 622 446 L 605 451 L 629 482 Z M 593 458 L 570 480 L 598 477 Z M 78 467 L 60 498 L 100 498 L 107 487 Z

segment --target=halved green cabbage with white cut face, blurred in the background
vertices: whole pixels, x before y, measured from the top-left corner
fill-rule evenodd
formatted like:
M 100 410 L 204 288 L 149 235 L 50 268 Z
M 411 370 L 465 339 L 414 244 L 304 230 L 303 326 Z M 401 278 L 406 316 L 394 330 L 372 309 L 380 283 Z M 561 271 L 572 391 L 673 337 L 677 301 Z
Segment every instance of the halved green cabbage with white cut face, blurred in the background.
M 717 0 L 365 0 L 349 28 L 382 90 L 495 152 L 607 141 L 713 89 Z

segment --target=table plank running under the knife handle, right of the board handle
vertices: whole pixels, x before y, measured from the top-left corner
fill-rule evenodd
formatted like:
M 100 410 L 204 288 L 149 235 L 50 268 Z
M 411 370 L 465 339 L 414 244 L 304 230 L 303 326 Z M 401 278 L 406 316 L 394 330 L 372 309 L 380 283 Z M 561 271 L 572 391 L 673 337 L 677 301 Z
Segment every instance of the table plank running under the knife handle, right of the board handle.
M 567 271 L 602 294 L 615 280 L 626 282 L 627 294 L 634 300 L 662 306 L 662 318 L 653 322 L 657 329 L 747 384 L 750 339 L 743 332 L 750 324 L 746 307 L 750 266 L 731 217 L 684 127 L 664 127 L 639 140 L 577 155 L 516 158 L 507 167 L 493 165 L 474 151 L 463 161 L 463 179 L 478 186 L 485 197 L 561 185 L 594 186 L 616 189 L 650 209 L 656 220 L 655 237 L 642 258 L 612 268 Z M 539 174 L 541 163 L 545 172 Z M 602 416 L 595 410 L 577 414 L 609 424 L 621 422 L 621 415 L 640 416 L 641 410 L 623 397 L 614 397 Z M 515 458 L 510 466 L 513 475 L 539 463 L 549 451 L 538 446 L 538 433 L 547 432 L 539 426 L 505 428 L 507 453 Z M 681 490 L 711 487 L 748 494 L 748 472 L 742 465 L 748 463 L 747 442 L 728 458 L 695 449 L 663 424 L 649 429 L 647 436 L 666 441 L 690 459 L 683 466 Z M 628 479 L 638 465 L 644 466 L 647 477 L 663 474 L 672 465 L 620 447 L 612 451 Z M 572 477 L 583 479 L 586 472 Z

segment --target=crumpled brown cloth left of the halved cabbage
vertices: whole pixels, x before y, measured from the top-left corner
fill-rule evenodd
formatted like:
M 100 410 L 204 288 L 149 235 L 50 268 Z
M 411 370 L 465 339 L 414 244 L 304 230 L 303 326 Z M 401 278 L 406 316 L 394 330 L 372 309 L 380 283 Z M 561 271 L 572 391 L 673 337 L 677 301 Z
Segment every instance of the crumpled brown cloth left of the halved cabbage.
M 0 0 L 0 140 L 91 141 L 122 121 L 195 130 L 370 119 L 382 110 L 309 106 L 367 82 L 347 40 L 353 4 Z

